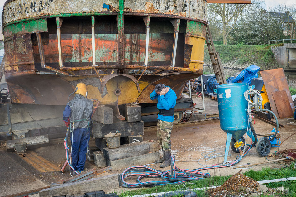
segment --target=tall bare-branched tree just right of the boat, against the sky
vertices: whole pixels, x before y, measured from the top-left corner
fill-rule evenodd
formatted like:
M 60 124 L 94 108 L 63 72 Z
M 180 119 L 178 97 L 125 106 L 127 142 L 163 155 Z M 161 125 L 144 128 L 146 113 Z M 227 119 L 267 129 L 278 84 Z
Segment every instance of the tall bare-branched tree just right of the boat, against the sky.
M 216 20 L 220 20 L 222 23 L 224 45 L 227 45 L 227 36 L 246 6 L 246 4 L 208 4 L 208 13 L 216 13 L 218 16 Z

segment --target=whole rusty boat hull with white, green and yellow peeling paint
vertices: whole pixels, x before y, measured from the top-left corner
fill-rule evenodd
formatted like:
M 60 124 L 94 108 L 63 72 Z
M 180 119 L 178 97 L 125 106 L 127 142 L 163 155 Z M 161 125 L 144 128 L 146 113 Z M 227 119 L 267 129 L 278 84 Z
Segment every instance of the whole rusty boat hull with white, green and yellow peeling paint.
M 11 101 L 65 105 L 79 82 L 88 98 L 117 109 L 155 102 L 149 94 L 158 83 L 179 99 L 186 81 L 202 74 L 206 5 L 9 0 L 2 24 Z

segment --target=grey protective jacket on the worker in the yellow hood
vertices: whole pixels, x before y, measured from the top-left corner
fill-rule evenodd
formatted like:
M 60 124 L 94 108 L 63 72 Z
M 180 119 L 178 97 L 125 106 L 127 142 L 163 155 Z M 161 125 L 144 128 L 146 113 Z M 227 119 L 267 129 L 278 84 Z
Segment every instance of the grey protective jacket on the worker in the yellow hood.
M 80 94 L 76 94 L 74 99 L 71 100 L 72 108 L 71 108 L 71 117 L 72 120 L 82 120 L 88 119 L 89 127 L 90 127 L 90 116 L 92 115 L 93 110 L 93 102 L 90 99 L 85 98 Z M 67 105 L 70 106 L 69 103 Z M 76 128 L 87 128 L 88 121 L 83 120 L 74 123 L 74 129 Z M 70 125 L 72 128 L 72 125 Z

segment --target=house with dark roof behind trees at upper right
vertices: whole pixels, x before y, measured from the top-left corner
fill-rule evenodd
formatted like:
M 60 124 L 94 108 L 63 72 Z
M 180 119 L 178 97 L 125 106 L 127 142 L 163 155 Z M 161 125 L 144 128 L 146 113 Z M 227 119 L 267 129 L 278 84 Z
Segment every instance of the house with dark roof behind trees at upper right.
M 264 10 L 266 12 L 266 10 Z M 281 12 L 268 12 L 271 17 L 277 17 L 280 18 L 280 20 L 283 23 L 283 34 L 285 36 L 288 36 L 289 38 L 295 38 L 295 20 L 290 15 L 290 12 L 287 11 L 285 13 Z M 293 35 L 293 36 L 292 36 Z

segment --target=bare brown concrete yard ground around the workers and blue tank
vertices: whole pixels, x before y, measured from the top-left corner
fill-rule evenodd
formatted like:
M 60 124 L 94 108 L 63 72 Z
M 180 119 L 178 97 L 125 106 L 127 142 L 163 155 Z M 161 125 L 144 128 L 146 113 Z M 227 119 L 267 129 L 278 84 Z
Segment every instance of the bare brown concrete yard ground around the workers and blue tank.
M 217 101 L 213 101 L 206 98 L 206 113 L 214 114 L 218 112 Z M 194 103 L 200 105 L 202 100 L 200 98 L 194 98 Z M 285 128 L 279 129 L 281 134 L 281 140 L 284 141 L 288 136 L 296 132 L 296 125 L 289 124 L 286 119 L 280 119 L 279 122 L 285 125 Z M 270 133 L 274 126 L 255 119 L 254 128 L 256 133 L 267 134 Z M 156 140 L 156 129 L 144 132 L 144 140 Z M 286 148 L 296 148 L 296 135 L 290 137 L 286 140 L 279 150 L 284 150 Z M 217 120 L 214 123 L 201 123 L 198 125 L 191 125 L 186 127 L 173 128 L 171 134 L 172 152 L 174 153 L 176 160 L 176 166 L 179 168 L 186 169 L 196 169 L 203 167 L 198 164 L 196 160 L 202 159 L 202 154 L 206 151 L 215 151 L 215 153 L 224 153 L 226 142 L 226 133 L 220 129 L 220 123 Z M 250 143 L 250 138 L 246 138 L 246 142 Z M 90 146 L 94 145 L 94 139 L 91 139 Z M 55 166 L 59 168 L 65 162 L 65 149 L 64 143 L 51 144 L 49 146 L 44 146 L 40 148 L 33 149 L 38 155 L 42 156 L 44 159 L 52 162 Z M 278 151 L 278 148 L 272 148 L 271 153 Z M 228 156 L 228 160 L 234 160 L 239 154 L 231 153 Z M 272 158 L 270 158 L 272 159 Z M 181 162 L 181 161 L 191 161 L 191 162 Z M 256 153 L 255 147 L 252 148 L 249 153 L 241 160 L 238 165 L 243 165 L 247 163 L 257 163 L 266 161 L 265 157 L 259 157 Z M 217 157 L 215 159 L 209 160 L 207 162 L 200 162 L 203 165 L 212 165 L 223 162 L 223 157 Z M 86 161 L 86 167 L 88 169 L 95 167 L 93 162 Z M 159 164 L 152 164 L 149 167 L 160 169 Z M 283 167 L 279 164 L 268 163 L 264 165 L 253 166 L 251 169 L 260 170 L 262 167 L 280 168 Z M 165 168 L 165 170 L 169 167 Z M 249 169 L 244 169 L 248 171 Z M 102 175 L 108 175 L 113 173 L 121 173 L 120 171 L 109 171 Z M 205 170 L 204 172 L 210 173 L 212 176 L 224 176 L 233 175 L 238 172 L 239 169 L 233 169 L 231 167 L 219 168 L 215 170 Z M 0 185 L 0 196 L 10 195 L 17 192 L 33 190 L 41 187 L 50 185 L 50 183 L 55 183 L 57 180 L 69 178 L 70 175 L 69 168 L 66 169 L 65 173 L 60 171 L 54 172 L 38 172 L 34 167 L 29 165 L 20 156 L 17 156 L 14 152 L 0 151 L 0 180 L 2 184 Z M 106 192 L 111 192 L 114 190 L 107 190 Z M 37 195 L 38 196 L 38 195 Z

